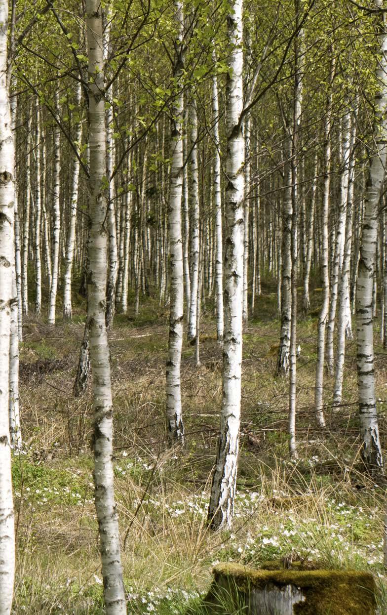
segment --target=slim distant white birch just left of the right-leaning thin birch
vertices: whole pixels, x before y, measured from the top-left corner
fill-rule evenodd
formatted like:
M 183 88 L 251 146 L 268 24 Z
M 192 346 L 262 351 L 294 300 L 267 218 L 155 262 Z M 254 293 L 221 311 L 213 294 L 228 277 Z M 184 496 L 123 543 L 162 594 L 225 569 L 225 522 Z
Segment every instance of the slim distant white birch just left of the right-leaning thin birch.
M 55 95 L 57 99 L 58 95 Z M 58 108 L 58 101 L 56 101 Z M 59 240 L 60 240 L 60 130 L 54 133 L 54 159 L 53 159 L 53 259 L 52 282 L 49 296 L 49 325 L 55 325 L 55 311 L 57 307 L 58 269 L 59 269 Z

